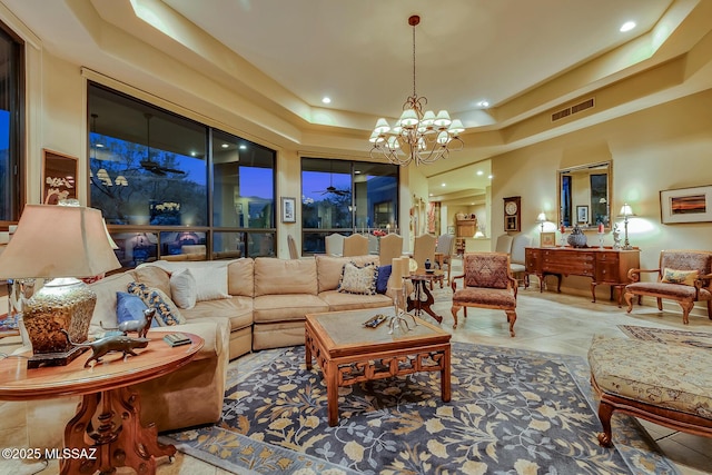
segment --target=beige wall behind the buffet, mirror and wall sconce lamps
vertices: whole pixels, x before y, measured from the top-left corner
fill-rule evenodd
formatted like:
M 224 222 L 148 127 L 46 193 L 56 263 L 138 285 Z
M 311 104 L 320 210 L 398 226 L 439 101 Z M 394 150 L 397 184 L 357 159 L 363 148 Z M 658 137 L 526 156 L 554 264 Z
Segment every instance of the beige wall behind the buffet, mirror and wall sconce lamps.
M 712 249 L 712 222 L 662 225 L 660 190 L 712 185 L 712 90 L 530 146 L 492 161 L 492 226 L 503 229 L 502 198 L 522 196 L 522 230 L 538 243 L 536 216 L 556 211 L 556 170 L 611 159 L 614 222 L 623 202 L 637 217 L 630 240 L 641 266 L 657 267 L 661 249 Z M 622 228 L 622 225 L 621 225 Z M 589 244 L 597 244 L 595 231 Z M 605 244 L 613 243 L 606 235 Z M 587 293 L 590 280 L 571 277 L 563 287 Z M 605 297 L 607 288 L 601 291 Z

